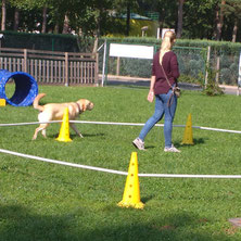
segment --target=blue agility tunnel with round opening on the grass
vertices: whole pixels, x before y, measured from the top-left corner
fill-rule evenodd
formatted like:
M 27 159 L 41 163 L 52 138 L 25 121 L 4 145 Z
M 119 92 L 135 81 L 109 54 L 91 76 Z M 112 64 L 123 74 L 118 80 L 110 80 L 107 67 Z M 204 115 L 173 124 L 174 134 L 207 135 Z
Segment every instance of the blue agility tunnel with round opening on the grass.
M 5 96 L 5 85 L 10 79 L 15 83 L 15 91 L 8 99 Z M 0 99 L 5 99 L 13 106 L 28 106 L 33 104 L 37 94 L 38 84 L 33 76 L 24 72 L 11 73 L 0 69 Z

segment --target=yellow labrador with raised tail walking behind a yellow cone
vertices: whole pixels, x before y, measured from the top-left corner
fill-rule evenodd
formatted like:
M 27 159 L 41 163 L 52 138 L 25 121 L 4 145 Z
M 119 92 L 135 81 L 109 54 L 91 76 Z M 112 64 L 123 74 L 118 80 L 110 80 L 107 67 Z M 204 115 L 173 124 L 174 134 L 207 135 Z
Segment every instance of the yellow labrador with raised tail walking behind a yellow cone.
M 39 105 L 39 101 L 43 98 L 46 93 L 39 93 L 33 103 L 34 109 L 39 110 L 40 113 L 38 115 L 38 120 L 40 123 L 51 122 L 51 120 L 62 120 L 64 115 L 64 110 L 68 109 L 68 119 L 75 119 L 79 114 L 85 112 L 86 110 L 91 111 L 93 109 L 93 103 L 86 99 L 80 99 L 76 102 L 69 103 L 49 103 L 45 105 Z M 35 130 L 35 135 L 33 140 L 35 140 L 38 136 L 38 132 L 41 131 L 42 136 L 46 137 L 46 128 L 49 124 L 40 124 L 38 128 Z M 74 123 L 69 123 L 69 126 L 75 130 L 75 132 L 83 137 L 83 135 L 78 131 Z

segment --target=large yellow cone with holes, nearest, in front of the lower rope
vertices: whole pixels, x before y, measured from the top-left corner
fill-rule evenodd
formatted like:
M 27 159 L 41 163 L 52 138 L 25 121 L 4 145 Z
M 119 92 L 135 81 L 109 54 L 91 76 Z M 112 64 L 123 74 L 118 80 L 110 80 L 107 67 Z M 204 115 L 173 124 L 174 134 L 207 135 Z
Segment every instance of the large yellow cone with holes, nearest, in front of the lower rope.
M 122 207 L 135 208 L 144 207 L 144 204 L 140 201 L 137 152 L 131 153 L 123 200 L 117 205 Z

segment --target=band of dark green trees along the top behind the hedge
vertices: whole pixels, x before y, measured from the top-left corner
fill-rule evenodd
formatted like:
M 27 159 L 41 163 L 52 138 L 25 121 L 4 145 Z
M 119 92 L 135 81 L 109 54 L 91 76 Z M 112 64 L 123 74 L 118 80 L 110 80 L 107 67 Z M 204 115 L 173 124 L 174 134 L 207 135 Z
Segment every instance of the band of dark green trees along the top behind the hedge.
M 241 27 L 240 1 L 2 0 L 1 29 L 128 36 L 131 13 L 149 16 L 150 12 L 155 12 L 158 13 L 160 28 L 175 28 L 178 38 L 237 41 L 241 38 L 238 35 Z M 116 16 L 125 16 L 125 23 Z

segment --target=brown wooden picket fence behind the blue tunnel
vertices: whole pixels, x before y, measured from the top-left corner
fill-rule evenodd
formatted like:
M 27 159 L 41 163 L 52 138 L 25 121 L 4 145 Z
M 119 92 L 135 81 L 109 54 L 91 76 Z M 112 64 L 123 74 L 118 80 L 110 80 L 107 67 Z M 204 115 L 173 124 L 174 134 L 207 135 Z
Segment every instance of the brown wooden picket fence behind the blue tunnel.
M 98 53 L 1 48 L 0 68 L 26 72 L 39 84 L 93 85 L 98 83 Z

